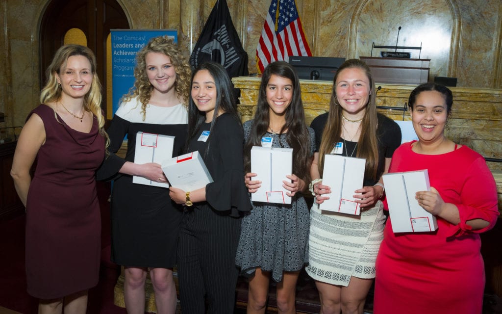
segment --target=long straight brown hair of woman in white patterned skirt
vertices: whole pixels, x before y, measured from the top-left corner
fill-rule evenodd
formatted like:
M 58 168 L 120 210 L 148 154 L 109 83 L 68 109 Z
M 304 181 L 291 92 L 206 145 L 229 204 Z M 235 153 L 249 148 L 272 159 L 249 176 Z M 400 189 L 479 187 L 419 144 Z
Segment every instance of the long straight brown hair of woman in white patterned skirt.
M 341 129 L 342 129 L 342 108 L 336 98 L 336 80 L 338 75 L 344 69 L 359 68 L 366 73 L 369 80 L 368 103 L 366 103 L 366 110 L 361 122 L 361 135 L 357 142 L 356 157 L 365 158 L 366 166 L 364 169 L 364 179 L 378 180 L 376 172 L 378 171 L 379 163 L 379 149 L 378 138 L 376 137 L 376 128 L 378 128 L 378 117 L 376 116 L 376 97 L 375 97 L 375 83 L 371 76 L 369 67 L 359 59 L 349 59 L 345 61 L 336 71 L 333 78 L 333 91 L 331 92 L 331 100 L 329 102 L 328 121 L 322 133 L 321 147 L 319 149 L 319 173 L 322 176 L 324 167 L 324 155 L 329 154 L 333 149 L 333 144 L 340 142 Z

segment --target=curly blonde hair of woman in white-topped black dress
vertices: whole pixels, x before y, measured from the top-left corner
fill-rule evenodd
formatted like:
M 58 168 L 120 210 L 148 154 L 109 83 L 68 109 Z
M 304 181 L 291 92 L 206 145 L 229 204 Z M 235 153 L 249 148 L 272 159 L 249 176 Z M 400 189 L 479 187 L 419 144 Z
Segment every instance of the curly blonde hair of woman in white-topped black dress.
M 191 68 L 186 61 L 181 50 L 174 43 L 174 40 L 167 36 L 159 36 L 152 38 L 148 44 L 143 47 L 136 55 L 136 67 L 134 68 L 134 87 L 129 90 L 129 93 L 123 95 L 121 102 L 130 101 L 132 98 L 139 96 L 141 102 L 141 114 L 145 121 L 147 113 L 147 104 L 152 95 L 154 87 L 150 84 L 147 75 L 146 57 L 150 52 L 162 53 L 171 59 L 171 63 L 176 71 L 176 81 L 174 88 L 178 97 L 182 98 L 183 105 L 188 108 L 188 100 L 190 99 L 191 90 Z

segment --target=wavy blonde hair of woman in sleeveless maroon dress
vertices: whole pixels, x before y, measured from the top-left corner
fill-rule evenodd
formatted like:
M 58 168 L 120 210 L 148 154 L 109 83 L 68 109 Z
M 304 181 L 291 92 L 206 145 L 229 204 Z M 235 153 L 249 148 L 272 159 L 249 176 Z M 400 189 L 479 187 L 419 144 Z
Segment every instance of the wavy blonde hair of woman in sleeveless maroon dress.
M 61 70 L 66 68 L 68 58 L 71 56 L 84 56 L 91 64 L 92 83 L 91 88 L 84 97 L 84 109 L 90 111 L 94 116 L 96 116 L 99 134 L 105 138 L 105 147 L 108 147 L 109 138 L 108 134 L 106 134 L 104 130 L 105 118 L 101 110 L 101 83 L 99 82 L 99 77 L 96 73 L 96 57 L 89 48 L 81 45 L 70 44 L 64 45 L 56 51 L 51 64 L 46 70 L 47 82 L 40 92 L 40 102 L 48 103 L 61 100 L 62 89 L 59 86 L 56 74 L 61 74 Z M 54 112 L 54 115 L 56 115 L 56 112 Z

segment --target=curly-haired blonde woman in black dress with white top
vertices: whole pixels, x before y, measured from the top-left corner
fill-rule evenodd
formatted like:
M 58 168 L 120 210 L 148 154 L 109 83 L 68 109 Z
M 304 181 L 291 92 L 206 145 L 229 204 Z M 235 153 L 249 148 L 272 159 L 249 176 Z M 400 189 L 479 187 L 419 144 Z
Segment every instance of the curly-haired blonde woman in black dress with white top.
M 152 181 L 167 179 L 157 163 L 137 164 L 136 134 L 147 132 L 174 136 L 173 156 L 185 143 L 186 103 L 190 67 L 167 36 L 153 38 L 137 54 L 134 89 L 125 95 L 107 132 L 112 154 L 100 169 L 100 178 L 112 178 L 111 232 L 113 262 L 124 265 L 124 300 L 129 314 L 145 311 L 145 281 L 150 271 L 158 313 L 173 313 L 181 208 L 164 187 L 133 183 L 133 176 Z M 125 159 L 117 152 L 128 137 Z M 172 156 L 168 156 L 172 157 Z

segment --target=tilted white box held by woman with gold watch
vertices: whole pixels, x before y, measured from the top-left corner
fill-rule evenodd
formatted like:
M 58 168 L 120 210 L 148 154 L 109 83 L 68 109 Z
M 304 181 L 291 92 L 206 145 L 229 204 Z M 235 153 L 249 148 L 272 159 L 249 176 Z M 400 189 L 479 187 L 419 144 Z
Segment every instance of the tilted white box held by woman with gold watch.
M 213 182 L 198 151 L 164 160 L 162 170 L 172 186 L 185 192 L 205 187 Z

